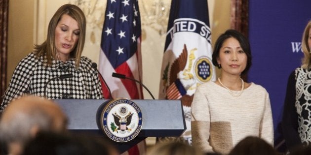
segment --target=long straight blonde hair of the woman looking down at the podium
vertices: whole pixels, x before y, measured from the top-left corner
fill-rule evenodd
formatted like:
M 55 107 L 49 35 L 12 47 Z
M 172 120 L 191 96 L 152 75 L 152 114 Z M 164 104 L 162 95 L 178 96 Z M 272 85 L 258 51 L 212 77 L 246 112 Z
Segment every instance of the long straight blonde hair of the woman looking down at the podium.
M 34 52 L 37 57 L 42 56 L 48 66 L 51 65 L 52 59 L 56 60 L 55 29 L 64 14 L 75 19 L 80 29 L 78 43 L 70 53 L 70 58 L 75 58 L 76 67 L 78 68 L 84 47 L 86 20 L 83 11 L 76 5 L 65 4 L 58 8 L 48 24 L 46 40 L 40 45 L 35 45 Z

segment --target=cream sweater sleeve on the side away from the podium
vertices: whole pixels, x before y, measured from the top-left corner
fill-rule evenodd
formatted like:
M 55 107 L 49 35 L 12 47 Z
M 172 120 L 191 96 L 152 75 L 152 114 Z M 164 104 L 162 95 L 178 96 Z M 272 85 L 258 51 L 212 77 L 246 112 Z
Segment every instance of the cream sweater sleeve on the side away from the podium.
M 271 110 L 271 103 L 269 94 L 266 94 L 265 97 L 265 110 L 264 115 L 262 118 L 262 124 L 261 124 L 261 138 L 266 140 L 269 144 L 273 146 L 273 140 L 274 140 L 274 131 L 273 131 L 273 119 L 272 119 L 272 110 Z

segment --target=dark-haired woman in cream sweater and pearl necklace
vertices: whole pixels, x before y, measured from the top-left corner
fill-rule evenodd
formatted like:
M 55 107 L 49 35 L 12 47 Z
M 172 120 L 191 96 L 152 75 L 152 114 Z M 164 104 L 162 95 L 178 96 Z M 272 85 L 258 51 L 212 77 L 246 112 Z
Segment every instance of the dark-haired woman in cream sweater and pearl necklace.
M 241 75 L 251 65 L 245 36 L 228 30 L 217 39 L 212 62 L 221 69 L 216 82 L 200 85 L 191 106 L 193 145 L 204 152 L 228 154 L 243 138 L 256 136 L 273 145 L 269 94 Z

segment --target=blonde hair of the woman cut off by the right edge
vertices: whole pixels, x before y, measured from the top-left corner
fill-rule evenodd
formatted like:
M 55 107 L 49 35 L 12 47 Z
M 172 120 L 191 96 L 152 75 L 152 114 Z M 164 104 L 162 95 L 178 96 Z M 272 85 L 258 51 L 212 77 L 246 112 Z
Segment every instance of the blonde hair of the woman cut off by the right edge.
M 305 55 L 305 57 L 302 59 L 301 67 L 304 69 L 311 68 L 311 54 L 310 54 L 310 47 L 308 44 L 310 28 L 311 28 L 311 21 L 309 21 L 309 23 L 307 24 L 301 41 L 302 44 L 301 49 Z

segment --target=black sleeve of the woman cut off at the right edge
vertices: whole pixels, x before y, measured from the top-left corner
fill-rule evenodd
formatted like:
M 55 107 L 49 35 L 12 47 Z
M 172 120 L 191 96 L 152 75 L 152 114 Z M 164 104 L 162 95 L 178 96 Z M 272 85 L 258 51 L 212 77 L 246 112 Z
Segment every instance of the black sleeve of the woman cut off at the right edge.
M 289 151 L 295 146 L 302 144 L 298 135 L 298 114 L 296 112 L 296 80 L 295 71 L 293 71 L 287 82 L 286 96 L 284 101 L 284 110 L 282 118 L 282 130 L 285 143 Z

